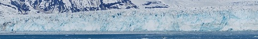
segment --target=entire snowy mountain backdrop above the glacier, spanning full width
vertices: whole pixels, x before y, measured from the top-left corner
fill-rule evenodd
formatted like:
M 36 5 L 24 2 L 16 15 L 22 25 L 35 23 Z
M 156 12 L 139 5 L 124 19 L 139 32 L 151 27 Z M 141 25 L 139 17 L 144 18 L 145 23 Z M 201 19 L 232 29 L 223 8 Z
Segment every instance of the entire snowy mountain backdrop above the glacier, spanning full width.
M 200 6 L 258 6 L 258 0 L 0 0 L 0 16 Z

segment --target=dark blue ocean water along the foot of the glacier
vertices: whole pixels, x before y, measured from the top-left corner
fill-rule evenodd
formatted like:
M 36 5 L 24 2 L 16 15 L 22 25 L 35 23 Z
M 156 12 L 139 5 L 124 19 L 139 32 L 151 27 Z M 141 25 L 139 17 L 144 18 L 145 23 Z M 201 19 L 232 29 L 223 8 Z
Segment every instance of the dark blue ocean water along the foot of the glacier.
M 257 31 L 177 32 L 162 34 L 0 35 L 0 39 L 258 39 Z

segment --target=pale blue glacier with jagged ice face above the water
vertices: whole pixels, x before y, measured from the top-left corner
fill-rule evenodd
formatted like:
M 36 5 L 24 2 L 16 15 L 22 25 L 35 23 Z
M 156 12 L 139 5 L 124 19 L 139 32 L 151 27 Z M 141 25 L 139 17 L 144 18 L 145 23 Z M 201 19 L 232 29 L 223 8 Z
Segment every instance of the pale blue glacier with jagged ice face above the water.
M 189 7 L 121 9 L 0 17 L 1 31 L 258 30 L 258 9 Z

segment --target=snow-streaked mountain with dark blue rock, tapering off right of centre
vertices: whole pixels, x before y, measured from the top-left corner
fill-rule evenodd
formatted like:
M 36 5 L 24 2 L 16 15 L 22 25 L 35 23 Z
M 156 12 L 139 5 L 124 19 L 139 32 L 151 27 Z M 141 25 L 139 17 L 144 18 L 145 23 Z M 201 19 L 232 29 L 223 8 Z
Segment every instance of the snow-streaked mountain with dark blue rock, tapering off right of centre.
M 4 16 L 169 6 L 157 0 L 0 0 L 0 7 L 0 16 Z

